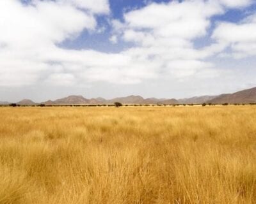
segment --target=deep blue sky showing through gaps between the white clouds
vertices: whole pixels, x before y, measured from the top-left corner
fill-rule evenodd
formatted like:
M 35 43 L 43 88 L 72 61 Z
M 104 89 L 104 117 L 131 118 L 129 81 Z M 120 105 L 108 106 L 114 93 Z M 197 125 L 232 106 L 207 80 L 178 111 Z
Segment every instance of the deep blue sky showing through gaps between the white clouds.
M 109 6 L 111 8 L 111 17 L 124 21 L 124 13 L 127 11 L 143 8 L 148 3 L 169 3 L 170 0 L 152 0 L 152 1 L 138 1 L 138 0 L 110 0 Z M 239 22 L 246 17 L 248 13 L 253 13 L 256 10 L 256 4 L 252 4 L 248 8 L 232 8 L 223 15 L 216 15 L 212 17 L 212 27 L 209 29 L 209 35 L 214 29 L 214 25 L 220 21 L 227 22 Z M 109 25 L 109 17 L 103 15 L 97 17 L 99 26 L 104 27 L 106 30 L 102 33 L 88 33 L 83 31 L 75 40 L 67 40 L 61 43 L 61 47 L 69 49 L 93 49 L 102 52 L 120 52 L 125 48 L 129 48 L 132 45 L 130 43 L 124 43 L 124 41 L 113 45 L 108 39 L 111 36 L 111 25 Z M 203 47 L 209 44 L 209 35 L 205 38 L 199 38 L 195 41 L 196 47 Z

